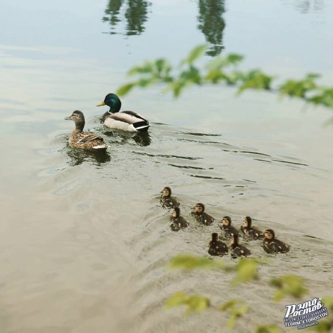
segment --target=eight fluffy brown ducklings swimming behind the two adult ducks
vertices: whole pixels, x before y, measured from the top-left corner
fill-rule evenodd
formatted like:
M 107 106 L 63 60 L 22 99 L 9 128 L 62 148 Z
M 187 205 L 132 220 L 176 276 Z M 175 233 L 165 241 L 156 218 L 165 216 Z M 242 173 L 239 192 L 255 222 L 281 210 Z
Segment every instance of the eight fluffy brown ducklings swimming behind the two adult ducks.
M 179 231 L 181 228 L 186 228 L 189 223 L 180 216 L 180 203 L 175 197 L 169 186 L 165 186 L 161 191 L 160 204 L 164 208 L 173 209 L 172 224 L 170 225 L 173 231 Z M 214 218 L 207 214 L 204 204 L 199 202 L 193 207 L 191 214 L 201 224 L 211 225 Z M 241 234 L 246 240 L 262 240 L 262 247 L 267 253 L 287 253 L 289 252 L 289 245 L 275 238 L 275 232 L 272 229 L 267 229 L 264 232 L 252 225 L 252 218 L 246 216 L 243 224 L 240 226 L 240 231 L 232 225 L 232 220 L 229 216 L 224 216 L 221 220 L 220 228 L 221 235 L 218 233 L 212 234 L 212 239 L 209 243 L 208 253 L 212 256 L 223 256 L 230 250 L 236 256 L 249 256 L 251 251 L 244 245 L 239 244 L 239 237 Z M 230 246 L 227 246 L 222 240 L 230 239 Z

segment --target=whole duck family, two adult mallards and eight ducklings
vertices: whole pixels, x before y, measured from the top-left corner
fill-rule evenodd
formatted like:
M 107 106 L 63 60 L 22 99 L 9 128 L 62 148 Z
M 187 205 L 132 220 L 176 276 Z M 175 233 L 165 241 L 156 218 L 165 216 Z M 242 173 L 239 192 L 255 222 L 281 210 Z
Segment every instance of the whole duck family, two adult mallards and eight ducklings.
M 135 111 L 121 111 L 121 101 L 116 94 L 107 94 L 105 99 L 97 104 L 97 107 L 108 106 L 110 109 L 103 114 L 101 122 L 104 124 L 106 131 L 110 129 L 120 129 L 130 132 L 146 132 L 150 125 L 147 119 Z M 109 146 L 104 142 L 102 136 L 94 132 L 84 132 L 85 116 L 76 110 L 72 115 L 65 118 L 72 120 L 75 124 L 75 129 L 70 133 L 68 143 L 72 148 L 79 148 L 88 151 L 106 151 Z M 169 186 L 165 186 L 161 191 L 160 204 L 164 209 L 173 209 L 171 216 L 170 228 L 173 231 L 180 231 L 189 226 L 189 223 L 180 216 L 180 203 L 172 196 L 172 191 Z M 193 207 L 191 215 L 202 225 L 212 225 L 215 221 L 214 217 L 205 212 L 203 203 L 198 202 Z M 252 218 L 246 216 L 243 224 L 240 226 L 240 232 L 232 225 L 230 216 L 224 216 L 221 219 L 221 235 L 212 233 L 211 241 L 209 242 L 208 253 L 212 256 L 223 256 L 230 252 L 234 256 L 249 256 L 251 251 L 244 245 L 239 243 L 241 234 L 244 240 L 262 240 L 262 247 L 267 253 L 287 253 L 289 245 L 275 238 L 275 232 L 272 229 L 267 229 L 264 232 L 252 225 Z M 227 246 L 222 240 L 230 240 L 230 245 Z

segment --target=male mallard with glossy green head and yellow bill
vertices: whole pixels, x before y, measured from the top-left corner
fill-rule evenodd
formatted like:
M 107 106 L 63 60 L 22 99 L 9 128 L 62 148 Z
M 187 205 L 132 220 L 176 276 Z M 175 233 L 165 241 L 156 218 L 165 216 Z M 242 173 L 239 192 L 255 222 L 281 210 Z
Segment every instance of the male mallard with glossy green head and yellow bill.
M 106 127 L 130 132 L 146 132 L 149 122 L 134 111 L 122 111 L 121 101 L 116 94 L 106 95 L 104 101 L 98 103 L 96 107 L 107 105 L 110 110 L 102 116 L 102 121 Z

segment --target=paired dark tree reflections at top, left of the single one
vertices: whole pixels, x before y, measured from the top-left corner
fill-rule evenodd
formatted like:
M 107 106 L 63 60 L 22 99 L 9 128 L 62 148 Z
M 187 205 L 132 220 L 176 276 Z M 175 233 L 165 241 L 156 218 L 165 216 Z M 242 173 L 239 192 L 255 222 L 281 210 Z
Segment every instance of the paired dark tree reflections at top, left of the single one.
M 126 35 L 140 35 L 144 31 L 144 23 L 148 18 L 148 7 L 150 2 L 145 0 L 110 0 L 103 16 L 103 22 L 109 22 L 111 26 L 110 34 L 116 34 L 115 28 L 121 21 L 119 18 L 120 10 L 127 7 L 124 18 L 126 19 Z

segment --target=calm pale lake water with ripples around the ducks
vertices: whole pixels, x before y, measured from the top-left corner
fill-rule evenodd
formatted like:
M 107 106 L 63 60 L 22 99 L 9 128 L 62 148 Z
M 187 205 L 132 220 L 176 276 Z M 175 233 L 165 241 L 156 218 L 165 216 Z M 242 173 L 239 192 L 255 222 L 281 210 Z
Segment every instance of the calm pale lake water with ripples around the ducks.
M 2 333 L 224 332 L 227 316 L 164 309 L 178 291 L 214 304 L 246 299 L 235 331 L 276 323 L 270 277 L 306 279 L 307 299 L 332 295 L 331 111 L 232 88 L 135 90 L 123 110 L 147 116 L 147 135 L 106 133 L 96 108 L 147 59 L 178 64 L 209 43 L 204 60 L 245 55 L 240 68 L 281 79 L 321 73 L 333 82 L 333 3 L 328 0 L 3 0 L 0 14 L 0 326 Z M 102 109 L 102 110 L 101 110 Z M 106 155 L 67 145 L 74 110 L 111 145 Z M 171 186 L 188 230 L 169 228 L 159 192 Z M 232 275 L 166 269 L 180 253 L 208 256 L 218 223 L 189 215 L 197 202 L 235 226 L 245 215 L 291 246 L 267 255 L 260 283 L 230 288 Z M 226 256 L 227 263 L 237 260 Z M 288 328 L 289 329 L 289 328 Z M 290 329 L 289 329 L 290 330 Z

